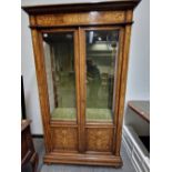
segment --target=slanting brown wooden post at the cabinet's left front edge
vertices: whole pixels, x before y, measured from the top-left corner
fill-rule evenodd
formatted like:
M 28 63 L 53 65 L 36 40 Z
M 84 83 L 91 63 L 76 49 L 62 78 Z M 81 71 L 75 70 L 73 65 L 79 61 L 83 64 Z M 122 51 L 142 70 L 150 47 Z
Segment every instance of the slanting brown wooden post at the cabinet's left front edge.
M 49 101 L 48 101 L 48 89 L 47 89 L 47 79 L 45 79 L 45 70 L 43 62 L 43 52 L 41 48 L 41 36 L 38 30 L 32 29 L 32 44 L 34 51 L 34 62 L 36 62 L 36 71 L 37 71 L 37 80 L 39 88 L 39 100 L 41 107 L 41 115 L 43 123 L 43 132 L 44 132 L 44 143 L 47 153 L 51 151 L 51 138 L 50 138 L 50 115 L 49 115 Z

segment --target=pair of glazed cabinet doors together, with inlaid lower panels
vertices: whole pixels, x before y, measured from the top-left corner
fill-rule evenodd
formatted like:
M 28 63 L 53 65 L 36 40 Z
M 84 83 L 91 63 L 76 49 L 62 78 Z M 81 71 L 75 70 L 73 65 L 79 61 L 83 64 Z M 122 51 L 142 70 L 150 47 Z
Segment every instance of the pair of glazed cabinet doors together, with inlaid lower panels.
M 113 154 L 123 31 L 42 31 L 51 151 Z

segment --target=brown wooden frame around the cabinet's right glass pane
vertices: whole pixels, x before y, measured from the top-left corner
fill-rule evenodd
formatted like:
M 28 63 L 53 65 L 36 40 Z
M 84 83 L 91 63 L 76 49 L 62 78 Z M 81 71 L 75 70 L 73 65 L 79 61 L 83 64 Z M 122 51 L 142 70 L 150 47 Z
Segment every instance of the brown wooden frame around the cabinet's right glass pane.
M 118 53 L 118 57 L 117 57 L 117 61 L 115 61 L 115 69 L 114 69 L 114 73 L 115 73 L 115 78 L 114 78 L 114 83 L 113 83 L 113 99 L 114 99 L 114 113 L 113 113 L 113 123 L 94 123 L 94 122 L 89 122 L 87 123 L 85 122 L 85 101 L 87 101 L 87 85 L 85 85 L 85 79 L 87 79 L 87 71 L 85 71 L 85 58 L 87 58 L 87 53 L 85 53 L 85 31 L 88 30 L 119 30 L 119 53 Z M 120 101 L 120 82 L 121 82 L 121 72 L 122 72 L 122 59 L 123 59 L 123 43 L 124 43 L 124 27 L 120 27 L 120 26 L 95 26 L 95 27 L 80 27 L 79 29 L 79 32 L 80 32 L 80 37 L 82 38 L 81 41 L 80 41 L 80 73 L 82 74 L 80 77 L 81 79 L 81 89 L 82 89 L 82 94 L 81 94 L 81 102 L 83 103 L 82 107 L 81 107 L 81 113 L 83 114 L 82 115 L 82 125 L 81 129 L 82 130 L 82 133 L 83 135 L 85 135 L 85 128 L 87 127 L 104 127 L 107 125 L 107 128 L 111 127 L 113 128 L 113 148 L 112 148 L 112 153 L 113 154 L 118 154 L 119 155 L 119 144 L 117 144 L 115 142 L 118 141 L 119 139 L 119 132 L 121 131 L 121 128 L 122 128 L 122 123 L 118 124 L 119 122 L 119 119 L 122 120 L 123 119 L 123 114 L 119 114 L 119 101 Z M 119 117 L 121 115 L 121 117 Z M 84 142 L 85 142 L 85 138 L 83 139 Z M 83 150 L 85 150 L 85 144 L 83 144 Z

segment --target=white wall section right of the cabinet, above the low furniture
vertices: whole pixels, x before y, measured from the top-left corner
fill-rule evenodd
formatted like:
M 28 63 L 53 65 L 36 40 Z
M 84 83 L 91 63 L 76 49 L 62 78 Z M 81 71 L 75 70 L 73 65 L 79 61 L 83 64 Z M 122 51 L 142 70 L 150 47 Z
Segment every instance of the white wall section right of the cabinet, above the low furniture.
M 150 99 L 150 0 L 134 10 L 125 100 Z

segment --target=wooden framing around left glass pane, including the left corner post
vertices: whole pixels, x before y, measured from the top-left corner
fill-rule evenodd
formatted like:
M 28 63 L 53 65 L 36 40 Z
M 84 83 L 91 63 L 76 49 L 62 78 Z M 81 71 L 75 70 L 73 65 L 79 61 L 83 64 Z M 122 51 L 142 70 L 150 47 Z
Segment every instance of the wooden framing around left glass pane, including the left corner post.
M 77 44 L 79 41 L 78 30 L 74 28 L 65 28 L 65 29 L 31 29 L 32 40 L 33 40 L 33 51 L 34 51 L 34 61 L 36 61 L 36 70 L 37 70 L 37 79 L 39 87 L 39 98 L 40 98 L 40 107 L 41 107 L 41 117 L 43 122 L 43 132 L 44 132 L 44 141 L 45 141 L 45 152 L 50 153 L 52 150 L 52 138 L 51 138 L 51 128 L 57 125 L 67 125 L 67 127 L 77 127 L 78 128 L 78 138 L 79 138 L 79 150 L 81 149 L 80 144 L 80 79 L 79 79 L 79 52 L 77 49 Z M 75 70 L 75 98 L 77 98 L 77 121 L 60 121 L 60 120 L 51 120 L 50 115 L 50 105 L 49 105 L 49 93 L 48 93 L 48 82 L 45 74 L 45 61 L 44 61 L 44 52 L 43 52 L 43 33 L 50 32 L 73 32 L 73 48 L 74 48 L 74 70 Z

